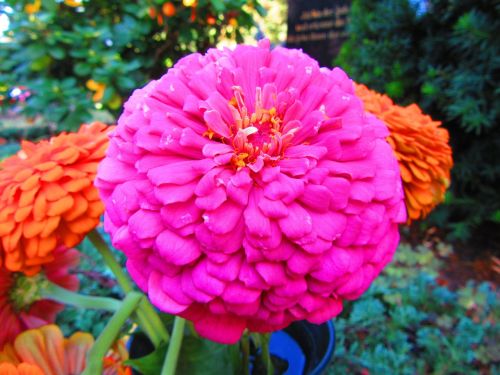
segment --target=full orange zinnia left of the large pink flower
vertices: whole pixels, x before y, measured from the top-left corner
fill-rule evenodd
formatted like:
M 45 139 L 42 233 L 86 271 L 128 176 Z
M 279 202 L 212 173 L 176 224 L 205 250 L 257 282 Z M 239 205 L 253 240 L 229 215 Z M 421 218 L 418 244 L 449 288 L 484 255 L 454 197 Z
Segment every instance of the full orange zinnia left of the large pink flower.
M 63 243 L 95 228 L 103 204 L 93 186 L 111 127 L 94 122 L 21 150 L 0 163 L 0 266 L 35 274 Z

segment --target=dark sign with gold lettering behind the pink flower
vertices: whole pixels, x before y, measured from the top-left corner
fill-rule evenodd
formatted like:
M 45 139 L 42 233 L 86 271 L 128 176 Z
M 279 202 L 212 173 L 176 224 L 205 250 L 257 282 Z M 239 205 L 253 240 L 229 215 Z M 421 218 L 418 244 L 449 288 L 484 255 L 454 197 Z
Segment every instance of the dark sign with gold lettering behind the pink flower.
M 332 66 L 347 38 L 350 5 L 350 0 L 288 0 L 286 46 L 302 48 L 321 66 Z

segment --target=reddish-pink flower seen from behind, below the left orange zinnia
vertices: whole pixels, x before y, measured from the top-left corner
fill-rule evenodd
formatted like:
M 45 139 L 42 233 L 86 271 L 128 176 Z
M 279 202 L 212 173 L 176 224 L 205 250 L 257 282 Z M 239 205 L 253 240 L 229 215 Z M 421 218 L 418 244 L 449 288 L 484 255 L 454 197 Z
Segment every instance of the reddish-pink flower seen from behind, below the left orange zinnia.
M 65 289 L 77 290 L 78 277 L 69 271 L 79 262 L 78 251 L 60 246 L 54 253 L 55 260 L 42 268 L 45 277 Z M 36 300 L 39 281 L 38 275 L 25 276 L 0 268 L 0 350 L 20 332 L 53 323 L 64 308 L 53 301 Z

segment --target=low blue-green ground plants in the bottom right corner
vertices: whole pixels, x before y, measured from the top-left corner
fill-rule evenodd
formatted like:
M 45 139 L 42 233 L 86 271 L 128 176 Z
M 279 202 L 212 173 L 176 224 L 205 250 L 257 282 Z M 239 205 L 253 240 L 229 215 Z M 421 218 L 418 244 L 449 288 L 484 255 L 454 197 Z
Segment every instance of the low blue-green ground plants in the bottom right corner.
M 470 282 L 452 291 L 440 285 L 440 267 L 429 249 L 400 246 L 395 263 L 335 320 L 328 373 L 498 373 L 498 290 Z

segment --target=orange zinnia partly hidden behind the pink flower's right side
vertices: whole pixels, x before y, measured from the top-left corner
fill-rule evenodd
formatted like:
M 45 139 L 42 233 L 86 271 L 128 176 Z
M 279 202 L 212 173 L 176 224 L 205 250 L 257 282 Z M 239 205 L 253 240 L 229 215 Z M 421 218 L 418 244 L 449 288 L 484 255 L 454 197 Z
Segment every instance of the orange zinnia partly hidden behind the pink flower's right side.
M 396 154 L 403 179 L 408 221 L 422 219 L 444 200 L 453 166 L 448 131 L 411 104 L 401 107 L 386 95 L 355 84 L 365 110 L 390 131 L 387 141 Z

